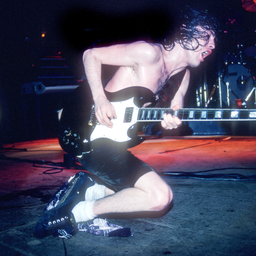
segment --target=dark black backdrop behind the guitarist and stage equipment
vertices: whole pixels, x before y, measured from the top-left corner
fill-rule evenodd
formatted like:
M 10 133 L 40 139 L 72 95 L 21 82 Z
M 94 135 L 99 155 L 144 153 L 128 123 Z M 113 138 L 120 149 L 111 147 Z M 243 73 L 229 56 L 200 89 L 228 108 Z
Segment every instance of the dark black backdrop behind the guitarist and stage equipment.
M 238 44 L 242 52 L 255 46 L 256 13 L 244 10 L 241 0 L 2 1 L 0 143 L 56 136 L 56 110 L 66 95 L 40 96 L 42 127 L 39 132 L 35 95 L 21 93 L 22 84 L 36 80 L 39 58 L 61 55 L 66 58 L 70 72 L 82 79 L 82 54 L 87 47 L 144 38 L 156 41 L 175 23 L 185 5 L 207 10 L 219 19 L 223 28 L 217 49 L 191 77 L 185 107 L 196 107 L 195 91 L 202 74 L 207 77 L 210 93 L 218 78 L 218 65 L 223 70 L 228 54 L 234 56 Z M 43 32 L 45 37 L 41 36 Z M 254 75 L 255 58 L 243 54 L 243 62 Z M 214 94 L 210 107 L 219 107 L 218 94 Z

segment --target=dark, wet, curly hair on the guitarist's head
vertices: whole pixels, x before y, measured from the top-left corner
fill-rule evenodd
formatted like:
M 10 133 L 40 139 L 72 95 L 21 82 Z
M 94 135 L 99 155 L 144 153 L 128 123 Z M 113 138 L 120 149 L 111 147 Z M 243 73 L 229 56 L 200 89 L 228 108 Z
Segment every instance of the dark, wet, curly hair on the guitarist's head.
M 171 51 L 178 43 L 183 49 L 195 51 L 199 46 L 198 39 L 209 42 L 210 36 L 206 30 L 212 30 L 215 34 L 219 32 L 219 22 L 207 12 L 187 7 L 181 12 L 180 19 L 175 25 L 177 29 L 170 37 L 166 37 L 161 43 L 164 49 Z M 196 43 L 195 43 L 196 42 Z

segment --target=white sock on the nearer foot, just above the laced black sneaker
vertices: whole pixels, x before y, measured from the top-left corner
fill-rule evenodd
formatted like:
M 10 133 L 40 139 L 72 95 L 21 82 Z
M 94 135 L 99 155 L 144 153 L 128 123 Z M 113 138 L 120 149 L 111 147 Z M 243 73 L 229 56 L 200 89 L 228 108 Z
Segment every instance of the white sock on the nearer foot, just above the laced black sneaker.
M 93 214 L 93 204 L 95 200 L 87 200 L 78 203 L 72 210 L 76 222 L 85 222 L 93 220 L 96 215 Z

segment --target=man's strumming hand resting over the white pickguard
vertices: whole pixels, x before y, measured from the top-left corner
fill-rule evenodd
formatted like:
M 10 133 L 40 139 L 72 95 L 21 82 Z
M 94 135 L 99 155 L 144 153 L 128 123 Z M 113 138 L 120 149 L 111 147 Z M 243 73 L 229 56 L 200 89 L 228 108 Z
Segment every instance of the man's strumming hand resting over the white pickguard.
M 106 98 L 98 98 L 94 103 L 98 122 L 112 128 L 113 123 L 110 120 L 117 118 L 114 106 Z

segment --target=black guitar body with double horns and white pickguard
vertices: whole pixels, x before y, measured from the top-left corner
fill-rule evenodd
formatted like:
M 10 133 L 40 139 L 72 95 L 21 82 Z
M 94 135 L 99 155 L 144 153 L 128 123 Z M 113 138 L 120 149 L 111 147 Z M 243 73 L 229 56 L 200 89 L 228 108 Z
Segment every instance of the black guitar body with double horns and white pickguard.
M 137 132 L 136 111 L 145 103 L 155 102 L 155 95 L 145 87 L 129 87 L 118 92 L 105 91 L 107 99 L 114 105 L 117 119 L 113 129 L 97 124 L 93 99 L 89 86 L 79 86 L 71 93 L 61 114 L 58 134 L 60 146 L 70 155 L 82 155 L 103 145 L 113 145 L 121 149 L 137 146 L 143 141 Z M 130 113 L 127 110 L 132 109 Z M 138 111 L 137 111 L 138 113 Z

